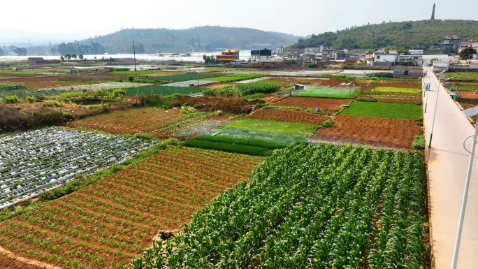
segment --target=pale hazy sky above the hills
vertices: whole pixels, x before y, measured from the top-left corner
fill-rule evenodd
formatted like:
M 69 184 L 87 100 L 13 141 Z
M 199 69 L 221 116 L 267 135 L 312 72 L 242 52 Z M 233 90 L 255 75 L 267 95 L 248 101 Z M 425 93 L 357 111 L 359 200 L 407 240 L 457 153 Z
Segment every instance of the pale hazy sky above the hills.
M 0 39 L 35 35 L 29 31 L 48 34 L 44 38 L 80 39 L 108 34 L 121 27 L 185 29 L 205 24 L 242 25 L 305 36 L 368 22 L 428 20 L 433 3 L 437 4 L 437 19 L 477 20 L 476 0 L 465 4 L 467 10 L 475 12 L 454 10 L 452 2 L 445 0 L 27 0 L 21 5 L 17 1 L 1 1 Z

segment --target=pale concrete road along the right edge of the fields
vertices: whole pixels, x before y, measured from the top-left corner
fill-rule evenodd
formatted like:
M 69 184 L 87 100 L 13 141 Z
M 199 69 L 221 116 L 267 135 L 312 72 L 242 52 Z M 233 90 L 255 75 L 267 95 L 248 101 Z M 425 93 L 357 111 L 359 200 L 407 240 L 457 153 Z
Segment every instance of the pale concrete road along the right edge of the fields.
M 426 149 L 428 163 L 428 191 L 430 202 L 430 236 L 433 262 L 436 269 L 451 268 L 458 218 L 470 154 L 463 149 L 463 139 L 473 134 L 474 127 L 449 97 L 433 73 L 428 108 L 423 121 L 427 147 L 433 122 L 435 100 L 437 115 L 431 149 Z M 426 96 L 423 102 L 426 102 Z M 471 148 L 471 139 L 467 147 Z M 476 157 L 475 157 L 476 158 Z M 468 203 L 461 237 L 458 268 L 478 268 L 478 160 L 472 170 Z M 433 267 L 433 266 L 432 266 Z

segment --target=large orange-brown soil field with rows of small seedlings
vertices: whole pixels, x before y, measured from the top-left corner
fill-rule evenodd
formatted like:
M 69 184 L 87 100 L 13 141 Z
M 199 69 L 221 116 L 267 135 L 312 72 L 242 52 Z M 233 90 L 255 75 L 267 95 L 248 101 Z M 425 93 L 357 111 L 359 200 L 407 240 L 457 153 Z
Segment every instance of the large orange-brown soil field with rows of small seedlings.
M 0 224 L 1 247 L 64 268 L 123 268 L 262 159 L 169 149 Z M 82 267 L 84 266 L 84 267 Z

